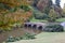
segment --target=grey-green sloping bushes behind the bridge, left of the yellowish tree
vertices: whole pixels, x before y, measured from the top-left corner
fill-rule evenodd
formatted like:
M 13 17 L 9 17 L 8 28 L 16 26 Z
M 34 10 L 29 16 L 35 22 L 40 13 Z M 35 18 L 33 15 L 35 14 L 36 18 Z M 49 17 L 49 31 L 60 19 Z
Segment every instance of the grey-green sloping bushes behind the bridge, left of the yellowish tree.
M 35 17 L 36 19 L 47 19 L 48 18 L 48 15 L 44 14 L 44 13 L 41 13 L 39 10 L 37 9 L 34 9 L 32 11 L 32 17 Z

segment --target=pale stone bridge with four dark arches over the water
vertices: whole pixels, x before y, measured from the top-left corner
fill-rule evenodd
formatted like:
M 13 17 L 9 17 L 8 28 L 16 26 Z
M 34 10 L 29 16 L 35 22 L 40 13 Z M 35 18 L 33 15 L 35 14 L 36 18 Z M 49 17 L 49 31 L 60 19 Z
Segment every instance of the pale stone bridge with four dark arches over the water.
M 39 30 L 43 30 L 46 28 L 47 24 L 44 23 L 25 23 L 24 27 L 26 28 L 35 28 Z

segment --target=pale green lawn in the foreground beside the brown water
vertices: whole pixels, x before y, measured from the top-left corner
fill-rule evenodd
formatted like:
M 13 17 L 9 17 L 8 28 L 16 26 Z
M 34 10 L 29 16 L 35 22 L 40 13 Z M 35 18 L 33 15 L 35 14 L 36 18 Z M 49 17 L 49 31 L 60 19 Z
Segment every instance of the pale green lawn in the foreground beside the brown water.
M 65 43 L 65 32 L 41 32 L 35 40 L 21 40 L 13 43 Z

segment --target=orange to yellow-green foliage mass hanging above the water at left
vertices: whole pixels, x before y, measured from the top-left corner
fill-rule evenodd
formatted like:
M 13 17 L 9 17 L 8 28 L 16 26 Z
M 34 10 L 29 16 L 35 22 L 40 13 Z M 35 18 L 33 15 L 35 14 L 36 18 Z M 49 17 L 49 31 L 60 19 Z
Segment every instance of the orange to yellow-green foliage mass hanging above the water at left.
M 31 16 L 31 11 L 24 12 L 24 10 L 17 10 L 13 13 L 0 14 L 0 28 L 11 27 L 14 24 L 24 24 Z

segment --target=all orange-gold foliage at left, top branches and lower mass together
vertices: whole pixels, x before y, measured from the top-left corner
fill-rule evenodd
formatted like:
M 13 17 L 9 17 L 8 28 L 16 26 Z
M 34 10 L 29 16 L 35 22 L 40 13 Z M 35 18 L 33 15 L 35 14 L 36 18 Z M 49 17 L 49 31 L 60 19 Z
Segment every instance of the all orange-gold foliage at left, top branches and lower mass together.
M 15 12 L 10 12 L 10 10 L 0 10 L 0 29 L 8 29 L 13 27 L 15 24 L 23 25 L 29 17 L 31 17 L 31 10 L 26 11 L 25 9 L 21 9 L 21 5 L 27 5 L 29 6 L 28 2 L 26 0 L 0 0 L 0 3 L 6 4 L 8 6 L 14 9 Z

